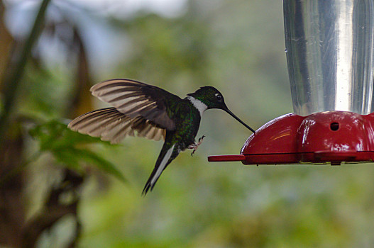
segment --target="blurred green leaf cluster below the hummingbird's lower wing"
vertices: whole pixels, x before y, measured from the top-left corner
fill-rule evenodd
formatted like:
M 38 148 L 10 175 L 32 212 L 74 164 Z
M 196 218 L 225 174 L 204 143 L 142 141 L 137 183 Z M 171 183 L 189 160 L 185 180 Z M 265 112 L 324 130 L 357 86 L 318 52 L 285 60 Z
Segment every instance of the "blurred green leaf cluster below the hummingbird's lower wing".
M 40 151 L 51 152 L 58 162 L 71 169 L 82 171 L 82 162 L 87 162 L 95 164 L 102 171 L 116 176 L 121 181 L 126 181 L 114 164 L 84 148 L 85 144 L 104 143 L 109 145 L 109 142 L 104 142 L 98 137 L 73 132 L 57 120 L 38 125 L 29 133 L 39 140 Z

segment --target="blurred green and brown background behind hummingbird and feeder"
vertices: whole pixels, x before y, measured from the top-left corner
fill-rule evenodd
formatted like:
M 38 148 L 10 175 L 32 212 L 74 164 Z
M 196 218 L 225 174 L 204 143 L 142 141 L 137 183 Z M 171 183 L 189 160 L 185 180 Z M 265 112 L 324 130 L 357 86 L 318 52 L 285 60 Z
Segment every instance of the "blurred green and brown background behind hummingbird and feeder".
M 41 2 L 0 0 L 0 246 L 373 247 L 373 164 L 210 163 L 251 135 L 211 110 L 194 157 L 142 197 L 163 142 L 66 128 L 107 106 L 89 88 L 112 78 L 215 86 L 255 129 L 292 113 L 282 1 Z

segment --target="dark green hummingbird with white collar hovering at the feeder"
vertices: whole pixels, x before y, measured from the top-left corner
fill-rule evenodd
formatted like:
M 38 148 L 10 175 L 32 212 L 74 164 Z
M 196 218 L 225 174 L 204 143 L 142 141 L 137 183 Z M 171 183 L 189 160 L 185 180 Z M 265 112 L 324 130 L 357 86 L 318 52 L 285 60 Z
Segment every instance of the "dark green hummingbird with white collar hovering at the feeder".
M 95 84 L 90 91 L 112 107 L 80 115 L 67 126 L 71 130 L 101 137 L 101 140 L 111 143 L 118 143 L 127 135 L 165 140 L 155 168 L 143 188 L 143 196 L 152 191 L 163 170 L 180 152 L 191 149 L 193 154 L 197 150 L 205 135 L 198 142 L 195 137 L 202 114 L 207 109 L 226 111 L 255 133 L 229 110 L 224 96 L 213 86 L 203 86 L 180 98 L 140 81 L 110 79 Z

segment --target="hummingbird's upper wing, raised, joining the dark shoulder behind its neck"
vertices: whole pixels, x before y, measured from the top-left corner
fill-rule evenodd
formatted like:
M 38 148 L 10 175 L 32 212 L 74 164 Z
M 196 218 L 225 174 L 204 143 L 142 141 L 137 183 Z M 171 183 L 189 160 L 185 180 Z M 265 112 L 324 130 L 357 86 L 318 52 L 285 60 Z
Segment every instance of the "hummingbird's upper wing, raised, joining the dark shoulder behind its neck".
M 166 130 L 175 130 L 170 106 L 181 100 L 163 89 L 130 79 L 111 79 L 92 86 L 92 95 L 130 118 L 141 117 Z

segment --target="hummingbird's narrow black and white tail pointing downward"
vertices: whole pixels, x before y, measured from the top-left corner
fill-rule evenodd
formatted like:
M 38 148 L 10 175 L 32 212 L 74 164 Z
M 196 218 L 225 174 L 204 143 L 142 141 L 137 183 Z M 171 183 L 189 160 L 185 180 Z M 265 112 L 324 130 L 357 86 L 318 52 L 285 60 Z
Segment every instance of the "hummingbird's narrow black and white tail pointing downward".
M 170 162 L 172 162 L 172 159 L 175 159 L 175 157 L 177 157 L 177 154 L 179 152 L 177 152 L 177 150 L 174 150 L 174 147 L 175 144 L 172 145 L 172 147 L 170 147 L 169 149 L 167 149 L 167 142 L 164 143 L 163 149 L 161 150 L 160 155 L 158 155 L 158 159 L 155 164 L 155 169 L 153 169 L 147 183 L 143 188 L 143 196 L 145 196 L 149 190 L 152 191 L 153 187 L 158 181 L 158 178 L 161 176 L 161 173 L 163 173 L 163 170 L 167 167 L 168 164 L 170 164 Z

